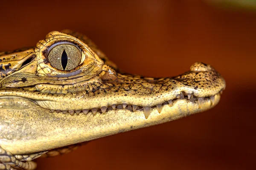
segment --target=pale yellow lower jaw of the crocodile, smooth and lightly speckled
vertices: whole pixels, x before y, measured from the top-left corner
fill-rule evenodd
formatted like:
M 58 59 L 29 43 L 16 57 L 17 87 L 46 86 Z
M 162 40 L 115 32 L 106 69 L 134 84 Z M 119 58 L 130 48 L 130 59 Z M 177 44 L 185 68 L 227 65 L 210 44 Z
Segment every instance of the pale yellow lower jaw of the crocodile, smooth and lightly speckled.
M 150 116 L 145 119 L 144 111 L 141 109 L 136 111 L 116 109 L 95 116 L 93 113 L 71 116 L 52 113 L 44 108 L 37 110 L 39 106 L 26 99 L 2 98 L 0 115 L 12 114 L 5 114 L 4 119 L 8 121 L 0 120 L 1 132 L 6 136 L 6 139 L 0 140 L 0 145 L 12 154 L 50 150 L 180 119 L 206 111 L 214 107 L 219 100 L 220 94 L 216 94 L 214 104 L 207 99 L 199 106 L 198 101 L 178 99 L 172 106 L 163 105 L 160 113 L 157 108 L 152 108 Z M 6 102 L 8 104 L 4 105 L 3 103 Z M 20 109 L 13 109 L 12 104 L 17 108 L 17 102 Z

